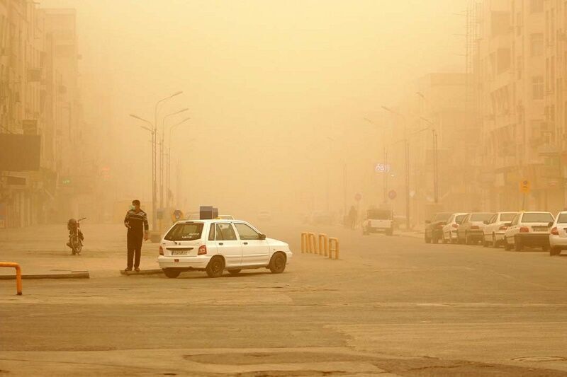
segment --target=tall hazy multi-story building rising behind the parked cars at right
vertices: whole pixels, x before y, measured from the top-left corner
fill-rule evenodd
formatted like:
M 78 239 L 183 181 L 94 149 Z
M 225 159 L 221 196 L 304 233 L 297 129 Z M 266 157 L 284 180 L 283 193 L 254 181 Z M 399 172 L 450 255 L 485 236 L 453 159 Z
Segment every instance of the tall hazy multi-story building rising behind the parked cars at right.
M 551 141 L 545 107 L 544 0 L 487 0 L 478 40 L 485 209 L 557 209 L 563 195 L 545 168 Z M 555 68 L 550 63 L 547 69 Z M 554 111 L 554 110 L 550 110 Z M 529 193 L 520 191 L 528 181 Z

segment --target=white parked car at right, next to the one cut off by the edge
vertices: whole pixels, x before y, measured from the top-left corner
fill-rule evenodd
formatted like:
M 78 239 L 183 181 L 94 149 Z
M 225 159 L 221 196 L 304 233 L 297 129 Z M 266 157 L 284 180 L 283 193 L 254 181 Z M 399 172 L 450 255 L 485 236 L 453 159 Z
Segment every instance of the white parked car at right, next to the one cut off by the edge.
M 522 212 L 517 214 L 504 233 L 504 250 L 522 251 L 524 246 L 549 249 L 549 224 L 555 221 L 549 212 Z

